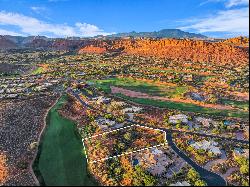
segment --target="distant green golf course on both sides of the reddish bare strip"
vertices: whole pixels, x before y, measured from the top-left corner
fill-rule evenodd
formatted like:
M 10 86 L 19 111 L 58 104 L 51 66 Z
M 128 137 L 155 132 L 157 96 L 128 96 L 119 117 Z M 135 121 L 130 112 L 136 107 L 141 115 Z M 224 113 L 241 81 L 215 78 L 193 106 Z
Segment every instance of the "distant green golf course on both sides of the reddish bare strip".
M 174 98 L 183 97 L 183 95 L 188 92 L 187 86 L 177 86 L 177 85 L 165 85 L 157 84 L 157 82 L 147 82 L 142 80 L 136 80 L 132 78 L 109 78 L 104 80 L 91 80 L 89 81 L 94 84 L 95 87 L 104 91 L 107 94 L 112 93 L 111 87 L 127 89 L 128 92 L 135 91 L 141 94 L 147 94 L 147 98 L 143 97 L 133 97 L 124 95 L 124 93 L 113 93 L 115 96 L 119 96 L 127 101 L 132 101 L 138 104 L 154 106 L 159 108 L 168 108 L 181 110 L 186 112 L 195 112 L 201 114 L 215 115 L 215 116 L 225 116 L 225 117 L 237 117 L 237 118 L 247 118 L 248 112 L 244 111 L 247 108 L 247 103 L 236 102 L 236 101 L 224 101 L 223 104 L 228 104 L 229 106 L 237 107 L 235 109 L 217 109 L 212 107 L 201 106 L 192 102 L 181 102 L 174 101 Z M 150 98 L 152 96 L 152 98 Z M 160 100 L 153 99 L 154 96 L 167 97 L 170 100 Z M 172 99 L 172 100 L 171 100 Z M 223 105 L 222 104 L 222 105 Z M 224 106 L 223 106 L 224 107 Z M 240 108 L 241 110 L 238 110 Z

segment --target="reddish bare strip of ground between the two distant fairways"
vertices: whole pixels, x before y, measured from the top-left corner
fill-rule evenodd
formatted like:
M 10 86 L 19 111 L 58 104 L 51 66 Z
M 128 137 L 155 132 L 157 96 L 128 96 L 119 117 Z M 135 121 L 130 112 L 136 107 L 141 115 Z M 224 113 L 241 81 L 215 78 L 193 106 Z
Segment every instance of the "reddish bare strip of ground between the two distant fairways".
M 202 106 L 206 108 L 213 108 L 213 109 L 220 109 L 220 110 L 234 110 L 231 106 L 226 105 L 220 105 L 220 104 L 207 104 L 207 103 L 201 103 L 199 101 L 194 101 L 191 99 L 181 99 L 181 98 L 167 98 L 167 97 L 159 97 L 159 96 L 151 96 L 146 93 L 136 92 L 132 90 L 127 90 L 124 88 L 119 88 L 115 86 L 111 86 L 111 92 L 113 94 L 121 93 L 128 97 L 134 97 L 134 98 L 144 98 L 144 99 L 153 99 L 153 100 L 160 100 L 160 101 L 171 101 L 171 102 L 179 102 L 179 103 L 189 103 L 189 104 L 195 104 L 197 106 Z

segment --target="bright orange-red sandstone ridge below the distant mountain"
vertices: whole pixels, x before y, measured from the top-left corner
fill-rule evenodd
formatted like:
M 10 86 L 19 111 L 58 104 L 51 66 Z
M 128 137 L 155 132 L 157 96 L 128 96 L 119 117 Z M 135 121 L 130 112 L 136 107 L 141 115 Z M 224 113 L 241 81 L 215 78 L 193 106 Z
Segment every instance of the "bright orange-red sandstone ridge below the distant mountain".
M 131 55 L 157 56 L 169 60 L 211 62 L 214 64 L 243 65 L 248 63 L 248 51 L 224 43 L 189 39 L 138 39 L 113 40 L 109 45 L 101 41 L 97 45 L 85 47 L 80 52 L 113 51 L 122 49 L 122 52 Z M 92 50 L 93 49 L 93 50 Z

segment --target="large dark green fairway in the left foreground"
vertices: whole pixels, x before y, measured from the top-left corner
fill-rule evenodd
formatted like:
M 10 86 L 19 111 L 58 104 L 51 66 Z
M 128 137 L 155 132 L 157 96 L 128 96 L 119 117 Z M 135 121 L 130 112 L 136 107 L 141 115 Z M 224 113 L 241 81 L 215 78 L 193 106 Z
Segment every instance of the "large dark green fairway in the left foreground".
M 46 186 L 94 186 L 88 176 L 83 145 L 75 124 L 58 113 L 67 97 L 60 98 L 47 116 L 47 129 L 39 147 L 38 170 Z

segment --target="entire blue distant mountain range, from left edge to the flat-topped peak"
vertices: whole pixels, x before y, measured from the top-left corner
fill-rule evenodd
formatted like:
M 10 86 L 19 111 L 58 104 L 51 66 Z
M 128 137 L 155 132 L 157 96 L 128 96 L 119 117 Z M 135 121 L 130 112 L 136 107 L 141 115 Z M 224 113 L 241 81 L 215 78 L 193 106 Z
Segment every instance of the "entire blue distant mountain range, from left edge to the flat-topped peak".
M 77 49 L 85 45 L 97 42 L 99 39 L 116 39 L 116 38 L 197 38 L 207 39 L 206 36 L 201 34 L 184 32 L 179 29 L 163 29 L 155 32 L 129 32 L 118 33 L 108 36 L 96 36 L 89 38 L 68 37 L 68 38 L 48 38 L 45 36 L 9 36 L 0 35 L 0 49 L 13 49 L 13 48 L 44 48 L 44 49 Z

